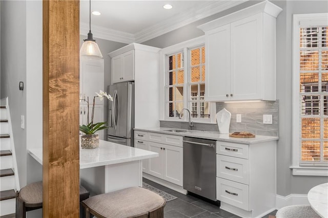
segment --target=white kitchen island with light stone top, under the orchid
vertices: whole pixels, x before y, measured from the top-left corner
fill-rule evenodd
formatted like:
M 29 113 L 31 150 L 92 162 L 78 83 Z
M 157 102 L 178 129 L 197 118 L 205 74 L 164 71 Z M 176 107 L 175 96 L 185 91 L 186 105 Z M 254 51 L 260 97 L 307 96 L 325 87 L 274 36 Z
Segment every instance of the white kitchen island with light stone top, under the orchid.
M 28 149 L 40 164 L 42 152 L 42 148 Z M 99 140 L 98 148 L 80 148 L 80 183 L 91 195 L 142 187 L 142 160 L 154 157 L 158 157 L 156 152 Z

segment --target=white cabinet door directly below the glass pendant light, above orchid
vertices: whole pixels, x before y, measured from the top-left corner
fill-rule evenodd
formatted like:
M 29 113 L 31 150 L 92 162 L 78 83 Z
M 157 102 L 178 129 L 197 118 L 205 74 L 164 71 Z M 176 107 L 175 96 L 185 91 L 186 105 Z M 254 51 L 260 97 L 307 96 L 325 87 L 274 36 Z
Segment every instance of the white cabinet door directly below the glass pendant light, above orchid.
M 81 98 L 86 99 L 89 97 L 89 104 L 92 105 L 93 97 L 99 90 L 104 91 L 104 59 L 82 59 L 80 69 L 80 95 Z M 85 103 L 85 102 L 84 102 Z M 99 98 L 95 98 L 96 104 L 102 102 Z

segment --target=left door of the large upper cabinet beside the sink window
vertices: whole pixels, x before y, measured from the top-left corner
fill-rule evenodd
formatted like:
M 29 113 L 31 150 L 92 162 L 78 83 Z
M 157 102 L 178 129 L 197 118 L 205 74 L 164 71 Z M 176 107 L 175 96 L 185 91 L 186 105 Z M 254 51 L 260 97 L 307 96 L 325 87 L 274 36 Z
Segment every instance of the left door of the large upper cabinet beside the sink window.
M 211 30 L 206 34 L 206 63 L 208 67 L 205 76 L 205 100 L 229 100 L 230 24 Z

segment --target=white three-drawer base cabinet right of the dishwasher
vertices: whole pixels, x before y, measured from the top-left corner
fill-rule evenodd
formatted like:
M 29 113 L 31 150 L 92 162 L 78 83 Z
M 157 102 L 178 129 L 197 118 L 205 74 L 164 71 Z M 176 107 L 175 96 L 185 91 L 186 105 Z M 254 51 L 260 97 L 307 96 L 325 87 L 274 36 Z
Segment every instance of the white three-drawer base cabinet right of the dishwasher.
M 217 141 L 216 199 L 241 217 L 275 210 L 276 141 L 240 144 Z

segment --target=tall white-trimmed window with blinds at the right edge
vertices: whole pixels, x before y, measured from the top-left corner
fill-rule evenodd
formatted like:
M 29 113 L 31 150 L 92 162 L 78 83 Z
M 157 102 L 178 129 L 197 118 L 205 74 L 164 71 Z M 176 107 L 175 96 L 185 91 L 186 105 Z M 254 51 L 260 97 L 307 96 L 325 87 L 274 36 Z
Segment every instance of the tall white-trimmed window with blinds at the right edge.
M 327 14 L 294 15 L 293 173 L 326 176 L 328 166 Z

